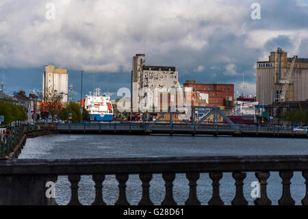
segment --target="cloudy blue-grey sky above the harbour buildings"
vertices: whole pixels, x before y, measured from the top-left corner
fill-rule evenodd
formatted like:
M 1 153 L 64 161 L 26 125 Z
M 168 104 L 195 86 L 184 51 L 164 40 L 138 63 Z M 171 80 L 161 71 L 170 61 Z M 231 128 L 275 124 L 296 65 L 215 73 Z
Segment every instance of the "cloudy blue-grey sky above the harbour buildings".
M 51 18 L 50 3 L 55 5 Z M 252 19 L 253 3 L 261 19 Z M 308 58 L 308 0 L 1 0 L 6 93 L 42 90 L 45 65 L 68 69 L 74 95 L 130 88 L 132 57 L 177 67 L 179 81 L 233 83 L 255 94 L 255 62 L 282 47 Z M 113 96 L 115 97 L 115 96 Z

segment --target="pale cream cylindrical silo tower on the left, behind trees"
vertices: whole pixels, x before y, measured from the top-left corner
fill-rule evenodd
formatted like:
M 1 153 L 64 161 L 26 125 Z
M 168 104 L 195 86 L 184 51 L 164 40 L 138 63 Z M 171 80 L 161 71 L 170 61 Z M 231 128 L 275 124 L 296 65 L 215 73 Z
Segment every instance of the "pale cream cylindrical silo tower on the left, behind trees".
M 62 103 L 68 100 L 68 73 L 66 69 L 55 69 L 47 65 L 42 75 L 42 96 L 46 101 L 48 93 L 62 93 Z

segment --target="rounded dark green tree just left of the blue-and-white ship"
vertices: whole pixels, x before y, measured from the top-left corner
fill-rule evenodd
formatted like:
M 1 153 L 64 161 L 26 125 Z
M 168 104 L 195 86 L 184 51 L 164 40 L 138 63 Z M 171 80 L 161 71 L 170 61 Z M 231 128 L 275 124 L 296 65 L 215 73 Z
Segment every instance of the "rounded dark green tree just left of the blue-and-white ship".
M 62 108 L 59 113 L 59 118 L 61 120 L 68 120 L 68 113 L 72 113 L 72 122 L 80 122 L 80 105 L 76 102 L 70 102 L 66 107 Z M 89 116 L 88 111 L 83 108 L 82 110 L 82 120 L 87 119 Z

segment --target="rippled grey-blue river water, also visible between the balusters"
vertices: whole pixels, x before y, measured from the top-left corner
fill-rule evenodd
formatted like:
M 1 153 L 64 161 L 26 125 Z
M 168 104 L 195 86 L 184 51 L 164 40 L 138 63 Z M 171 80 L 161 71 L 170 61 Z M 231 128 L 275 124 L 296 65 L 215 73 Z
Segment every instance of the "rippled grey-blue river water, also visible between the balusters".
M 169 135 L 46 135 L 27 139 L 19 159 L 87 159 L 121 157 L 200 157 L 232 155 L 299 155 L 308 154 L 307 139 L 274 139 L 251 137 L 169 136 Z M 257 181 L 254 173 L 247 173 L 244 180 L 244 196 L 249 205 L 251 183 Z M 292 198 L 296 205 L 305 196 L 305 179 L 301 172 L 294 172 L 291 185 Z M 225 205 L 230 205 L 235 195 L 235 181 L 231 173 L 224 173 L 220 181 L 220 196 Z M 201 174 L 197 181 L 198 200 L 207 205 L 211 198 L 211 179 Z M 118 182 L 108 175 L 103 183 L 103 196 L 107 205 L 113 205 L 118 198 Z M 161 174 L 154 174 L 150 195 L 155 205 L 164 200 L 164 180 Z M 94 182 L 91 176 L 81 176 L 79 200 L 90 205 L 94 200 Z M 70 183 L 67 176 L 59 176 L 56 183 L 56 201 L 66 205 L 70 200 Z M 127 181 L 127 200 L 137 205 L 141 199 L 142 187 L 138 175 L 130 175 Z M 178 205 L 188 198 L 189 186 L 185 174 L 177 174 L 174 181 L 174 197 Z M 277 205 L 282 194 L 281 178 L 278 172 L 270 172 L 268 197 Z

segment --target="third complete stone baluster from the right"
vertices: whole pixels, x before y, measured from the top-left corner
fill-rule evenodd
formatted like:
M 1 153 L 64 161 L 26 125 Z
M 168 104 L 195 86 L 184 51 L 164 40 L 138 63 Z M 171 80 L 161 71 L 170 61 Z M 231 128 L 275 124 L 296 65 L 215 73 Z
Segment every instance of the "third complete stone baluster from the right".
M 232 176 L 235 179 L 236 187 L 235 198 L 231 201 L 232 205 L 248 205 L 248 202 L 243 194 L 243 181 L 246 178 L 246 173 L 233 172 Z

